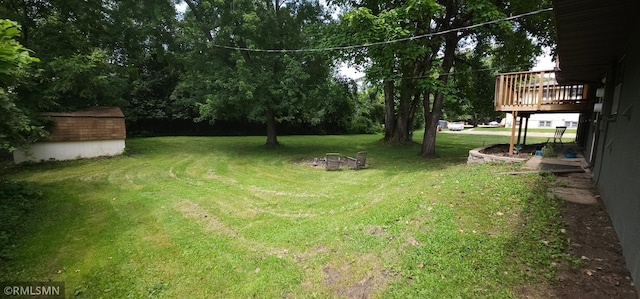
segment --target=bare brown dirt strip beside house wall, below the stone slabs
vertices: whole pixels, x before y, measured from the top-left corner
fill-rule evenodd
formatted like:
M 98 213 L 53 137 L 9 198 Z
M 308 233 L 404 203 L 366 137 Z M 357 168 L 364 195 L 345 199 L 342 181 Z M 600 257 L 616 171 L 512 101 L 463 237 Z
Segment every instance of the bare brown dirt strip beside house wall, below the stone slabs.
M 593 205 L 568 202 L 562 219 L 570 240 L 568 253 L 581 258 L 581 263 L 577 266 L 561 263 L 556 283 L 551 288 L 519 286 L 514 289 L 518 297 L 637 299 L 621 245 L 604 205 L 601 202 Z

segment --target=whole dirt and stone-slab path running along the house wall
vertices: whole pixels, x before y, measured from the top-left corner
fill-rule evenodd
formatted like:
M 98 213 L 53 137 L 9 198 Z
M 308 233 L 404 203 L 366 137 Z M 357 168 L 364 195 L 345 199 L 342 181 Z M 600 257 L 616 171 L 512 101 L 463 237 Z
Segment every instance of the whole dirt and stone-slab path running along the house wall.
M 520 286 L 515 289 L 517 296 L 520 298 L 639 298 L 625 265 L 622 246 L 597 188 L 592 183 L 591 173 L 586 168 L 584 158 L 535 157 L 535 161 L 531 158 L 525 166 L 539 169 L 543 160 L 567 166 L 580 165 L 580 168 L 585 170 L 556 174 L 555 182 L 547 195 L 550 200 L 567 202 L 562 214 L 563 232 L 569 240 L 566 253 L 578 258 L 580 263 L 558 264 L 555 284 L 551 287 L 548 285 Z M 529 163 L 536 161 L 537 163 Z

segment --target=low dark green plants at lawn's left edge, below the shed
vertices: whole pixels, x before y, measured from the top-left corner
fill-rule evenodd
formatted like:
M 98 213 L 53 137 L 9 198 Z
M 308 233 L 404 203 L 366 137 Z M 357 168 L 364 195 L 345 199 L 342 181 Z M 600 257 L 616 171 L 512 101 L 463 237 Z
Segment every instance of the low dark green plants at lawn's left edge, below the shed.
M 42 193 L 33 184 L 0 181 L 0 259 L 10 259 Z

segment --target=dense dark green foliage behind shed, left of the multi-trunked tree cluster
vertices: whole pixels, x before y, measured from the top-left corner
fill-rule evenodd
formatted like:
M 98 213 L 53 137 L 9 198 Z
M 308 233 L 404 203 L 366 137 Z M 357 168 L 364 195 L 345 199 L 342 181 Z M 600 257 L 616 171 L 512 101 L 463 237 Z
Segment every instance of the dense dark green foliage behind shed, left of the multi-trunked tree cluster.
M 41 59 L 13 91 L 34 114 L 118 105 L 133 127 L 221 119 L 370 129 L 328 53 L 212 47 L 316 47 L 330 19 L 320 3 L 185 1 L 180 14 L 164 0 L 3 3 L 0 14 L 23 24 L 19 40 Z

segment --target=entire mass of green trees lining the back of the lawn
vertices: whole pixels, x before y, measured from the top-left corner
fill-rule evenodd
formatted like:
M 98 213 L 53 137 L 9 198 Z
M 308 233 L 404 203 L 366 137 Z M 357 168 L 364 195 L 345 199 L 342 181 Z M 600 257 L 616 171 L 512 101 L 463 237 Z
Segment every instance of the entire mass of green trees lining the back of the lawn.
M 270 146 L 282 125 L 384 124 L 402 143 L 423 124 L 427 157 L 444 112 L 491 117 L 493 74 L 528 69 L 553 45 L 549 2 L 4 0 L 0 14 L 23 29 L 15 40 L 41 62 L 3 88 L 27 119 L 117 105 L 129 125 L 262 124 Z M 366 82 L 338 76 L 341 62 Z

